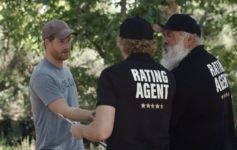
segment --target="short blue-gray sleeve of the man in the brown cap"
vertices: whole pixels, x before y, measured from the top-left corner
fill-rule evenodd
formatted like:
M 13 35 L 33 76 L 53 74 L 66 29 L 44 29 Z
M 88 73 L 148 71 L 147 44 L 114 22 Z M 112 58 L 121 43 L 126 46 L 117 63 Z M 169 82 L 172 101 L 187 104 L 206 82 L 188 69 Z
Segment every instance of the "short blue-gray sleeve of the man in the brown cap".
M 53 101 L 64 97 L 61 93 L 60 85 L 47 74 L 38 74 L 30 85 L 34 93 L 46 106 Z

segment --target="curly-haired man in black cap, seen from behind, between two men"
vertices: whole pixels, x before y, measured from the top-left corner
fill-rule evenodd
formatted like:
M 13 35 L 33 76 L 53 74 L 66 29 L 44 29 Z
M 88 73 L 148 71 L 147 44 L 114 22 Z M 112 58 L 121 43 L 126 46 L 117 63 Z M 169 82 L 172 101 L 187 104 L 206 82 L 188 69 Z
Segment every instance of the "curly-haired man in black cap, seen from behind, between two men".
M 140 17 L 126 19 L 117 39 L 124 61 L 103 70 L 96 117 L 73 125 L 75 138 L 107 139 L 108 150 L 169 150 L 173 75 L 152 59 L 153 30 Z

